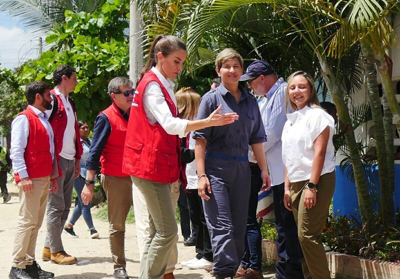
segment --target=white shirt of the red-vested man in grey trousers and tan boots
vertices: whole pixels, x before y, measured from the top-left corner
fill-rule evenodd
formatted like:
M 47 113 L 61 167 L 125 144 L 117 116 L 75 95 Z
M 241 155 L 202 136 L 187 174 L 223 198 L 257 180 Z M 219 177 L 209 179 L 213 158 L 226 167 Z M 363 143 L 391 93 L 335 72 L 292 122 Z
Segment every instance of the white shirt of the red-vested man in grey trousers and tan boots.
M 76 153 L 75 113 L 73 112 L 73 109 L 69 103 L 68 96 L 65 97 L 60 91 L 58 91 L 55 88 L 54 92 L 62 100 L 62 103 L 65 107 L 66 119 L 67 119 L 66 127 L 64 130 L 64 136 L 62 137 L 62 149 L 61 152 L 59 152 L 59 155 L 65 159 L 73 160 Z M 51 104 L 54 104 L 54 101 L 52 101 Z M 53 107 L 53 109 L 57 109 L 57 107 Z M 47 116 L 50 116 L 51 111 L 52 109 L 45 111 Z

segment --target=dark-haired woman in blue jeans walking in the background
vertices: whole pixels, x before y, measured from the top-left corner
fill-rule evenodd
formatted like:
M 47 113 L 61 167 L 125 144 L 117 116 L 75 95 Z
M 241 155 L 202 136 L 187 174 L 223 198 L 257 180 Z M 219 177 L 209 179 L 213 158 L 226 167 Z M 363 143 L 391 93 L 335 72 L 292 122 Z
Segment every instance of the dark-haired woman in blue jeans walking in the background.
M 80 142 L 82 143 L 83 146 L 83 153 L 82 157 L 80 158 L 80 175 L 76 177 L 75 180 L 73 181 L 73 187 L 76 193 L 78 194 L 78 200 L 75 204 L 75 207 L 73 208 L 72 216 L 69 219 L 69 222 L 67 222 L 64 227 L 64 231 L 73 237 L 78 237 L 73 231 L 73 225 L 79 219 L 80 215 L 83 215 L 83 219 L 90 230 L 90 237 L 98 238 L 99 234 L 97 230 L 94 228 L 93 220 L 91 218 L 91 213 L 90 213 L 91 202 L 89 202 L 87 205 L 84 205 L 82 202 L 82 198 L 80 197 L 80 194 L 84 186 L 84 180 L 86 179 L 85 164 L 90 149 L 90 139 L 88 138 L 90 129 L 86 121 L 83 120 L 78 121 L 78 126 L 79 126 Z

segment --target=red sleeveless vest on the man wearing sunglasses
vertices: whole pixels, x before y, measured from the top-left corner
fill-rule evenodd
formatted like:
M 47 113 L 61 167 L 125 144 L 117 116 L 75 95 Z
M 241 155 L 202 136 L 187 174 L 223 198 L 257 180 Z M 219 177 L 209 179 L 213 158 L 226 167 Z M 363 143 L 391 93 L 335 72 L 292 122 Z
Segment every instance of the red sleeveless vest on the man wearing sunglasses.
M 122 172 L 123 145 L 128 122 L 123 118 L 114 102 L 99 113 L 107 116 L 111 125 L 111 132 L 100 156 L 100 171 L 105 175 L 128 176 Z

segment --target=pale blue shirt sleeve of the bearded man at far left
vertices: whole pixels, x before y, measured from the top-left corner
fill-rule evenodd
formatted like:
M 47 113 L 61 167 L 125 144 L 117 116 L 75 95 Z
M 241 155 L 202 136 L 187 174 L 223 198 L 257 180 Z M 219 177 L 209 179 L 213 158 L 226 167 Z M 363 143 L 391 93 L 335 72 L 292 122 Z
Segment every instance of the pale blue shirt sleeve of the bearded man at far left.
M 12 159 L 12 168 L 20 178 L 28 177 L 25 158 L 23 157 L 28 135 L 29 120 L 25 115 L 16 116 L 11 123 L 10 157 Z

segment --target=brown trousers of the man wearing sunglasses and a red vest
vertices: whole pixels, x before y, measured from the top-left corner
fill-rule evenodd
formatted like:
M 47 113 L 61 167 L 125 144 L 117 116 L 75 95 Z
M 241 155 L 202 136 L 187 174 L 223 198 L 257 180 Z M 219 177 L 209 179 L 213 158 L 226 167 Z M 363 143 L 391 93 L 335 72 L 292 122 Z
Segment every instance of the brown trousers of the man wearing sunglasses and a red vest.
M 100 182 L 107 196 L 108 237 L 114 269 L 126 268 L 125 221 L 132 206 L 132 181 L 129 176 L 101 174 Z

